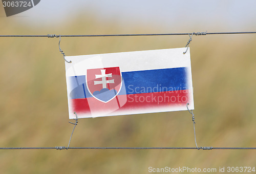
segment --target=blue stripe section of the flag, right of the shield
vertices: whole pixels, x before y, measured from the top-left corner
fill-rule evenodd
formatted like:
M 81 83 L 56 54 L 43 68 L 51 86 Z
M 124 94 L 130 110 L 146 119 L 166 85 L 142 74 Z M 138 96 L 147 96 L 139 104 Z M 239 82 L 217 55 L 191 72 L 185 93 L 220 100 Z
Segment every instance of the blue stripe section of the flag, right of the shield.
M 187 90 L 187 68 L 123 72 L 126 94 Z

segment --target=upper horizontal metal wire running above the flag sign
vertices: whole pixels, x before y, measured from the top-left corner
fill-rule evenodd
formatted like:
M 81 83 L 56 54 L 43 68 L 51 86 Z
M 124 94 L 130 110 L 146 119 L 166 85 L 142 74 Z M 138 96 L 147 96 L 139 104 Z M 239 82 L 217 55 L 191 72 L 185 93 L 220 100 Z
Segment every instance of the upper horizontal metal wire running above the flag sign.
M 87 34 L 87 35 L 0 35 L 0 37 L 111 37 L 111 36 L 171 36 L 171 35 L 215 35 L 215 34 L 256 34 L 252 32 L 193 32 L 193 33 L 153 33 L 153 34 Z

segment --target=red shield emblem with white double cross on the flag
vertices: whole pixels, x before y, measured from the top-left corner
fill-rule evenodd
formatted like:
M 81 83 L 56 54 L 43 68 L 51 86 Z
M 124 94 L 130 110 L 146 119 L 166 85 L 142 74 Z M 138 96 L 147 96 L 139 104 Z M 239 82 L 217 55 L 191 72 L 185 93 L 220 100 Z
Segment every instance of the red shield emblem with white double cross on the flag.
M 104 103 L 114 99 L 122 85 L 119 67 L 89 69 L 86 79 L 90 94 Z

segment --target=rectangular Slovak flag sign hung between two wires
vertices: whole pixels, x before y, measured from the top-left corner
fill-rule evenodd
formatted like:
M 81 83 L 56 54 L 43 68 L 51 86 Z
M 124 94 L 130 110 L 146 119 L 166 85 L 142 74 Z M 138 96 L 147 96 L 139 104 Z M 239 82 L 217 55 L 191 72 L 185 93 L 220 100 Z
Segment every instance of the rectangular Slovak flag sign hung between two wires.
M 189 48 L 67 56 L 69 118 L 194 109 Z

